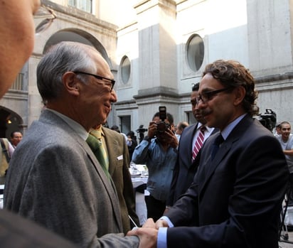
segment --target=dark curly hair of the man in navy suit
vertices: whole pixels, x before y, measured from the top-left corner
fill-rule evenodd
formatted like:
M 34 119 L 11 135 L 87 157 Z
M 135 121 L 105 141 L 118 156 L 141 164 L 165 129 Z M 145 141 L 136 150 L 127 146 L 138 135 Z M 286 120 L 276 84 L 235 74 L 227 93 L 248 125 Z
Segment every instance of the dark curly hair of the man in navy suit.
M 208 73 L 211 73 L 225 87 L 235 89 L 243 86 L 246 92 L 243 107 L 251 116 L 257 114 L 258 107 L 255 102 L 257 90 L 255 90 L 255 80 L 249 70 L 235 60 L 216 60 L 214 63 L 206 65 L 203 76 Z

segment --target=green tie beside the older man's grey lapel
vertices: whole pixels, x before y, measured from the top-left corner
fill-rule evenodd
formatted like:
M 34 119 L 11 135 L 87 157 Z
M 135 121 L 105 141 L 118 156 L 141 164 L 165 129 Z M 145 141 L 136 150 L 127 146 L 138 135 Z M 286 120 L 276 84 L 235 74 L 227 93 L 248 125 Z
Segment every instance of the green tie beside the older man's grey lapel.
M 105 172 L 106 176 L 110 178 L 110 174 L 108 171 L 109 159 L 107 157 L 105 148 L 102 144 L 101 134 L 97 133 L 100 133 L 100 131 L 94 130 L 90 132 L 90 134 L 87 137 L 87 144 L 90 146 L 90 149 L 95 154 L 97 160 L 100 162 L 100 165 L 102 166 L 102 169 Z

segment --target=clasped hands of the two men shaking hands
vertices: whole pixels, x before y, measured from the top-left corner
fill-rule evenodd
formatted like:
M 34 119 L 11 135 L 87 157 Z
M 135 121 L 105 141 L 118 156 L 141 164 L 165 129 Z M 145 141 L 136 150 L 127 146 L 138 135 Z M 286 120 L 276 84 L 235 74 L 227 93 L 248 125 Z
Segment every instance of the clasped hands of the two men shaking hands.
M 166 220 L 157 220 L 155 223 L 149 218 L 142 227 L 134 227 L 133 230 L 127 232 L 127 236 L 138 236 L 139 248 L 156 248 L 159 227 L 169 227 L 169 225 Z

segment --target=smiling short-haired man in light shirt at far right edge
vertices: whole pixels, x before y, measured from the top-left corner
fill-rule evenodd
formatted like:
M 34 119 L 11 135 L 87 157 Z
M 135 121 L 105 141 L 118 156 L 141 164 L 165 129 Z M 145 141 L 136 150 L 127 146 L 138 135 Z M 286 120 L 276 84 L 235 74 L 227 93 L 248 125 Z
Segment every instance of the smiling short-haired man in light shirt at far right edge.
M 277 136 L 285 154 L 289 168 L 289 183 L 287 188 L 288 206 L 293 205 L 293 135 L 291 134 L 291 124 L 281 122 L 279 124 L 279 136 Z

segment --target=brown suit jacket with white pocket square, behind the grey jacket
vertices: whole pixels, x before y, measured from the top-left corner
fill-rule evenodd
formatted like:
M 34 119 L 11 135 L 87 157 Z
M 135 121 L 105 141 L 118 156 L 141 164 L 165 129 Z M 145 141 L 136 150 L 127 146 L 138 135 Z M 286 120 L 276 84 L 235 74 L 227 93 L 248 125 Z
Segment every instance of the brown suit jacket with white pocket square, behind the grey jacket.
M 129 173 L 129 153 L 124 136 L 102 127 L 109 156 L 109 173 L 114 181 L 122 215 L 123 231 L 126 234 L 133 225 L 128 215 L 139 225 L 139 217 L 135 212 L 135 196 L 132 178 Z

